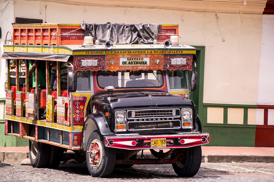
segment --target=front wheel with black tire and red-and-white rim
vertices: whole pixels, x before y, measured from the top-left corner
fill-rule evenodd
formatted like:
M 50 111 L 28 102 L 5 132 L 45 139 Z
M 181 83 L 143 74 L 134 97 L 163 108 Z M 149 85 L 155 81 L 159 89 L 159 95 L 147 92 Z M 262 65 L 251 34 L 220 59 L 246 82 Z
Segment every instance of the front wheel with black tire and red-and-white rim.
M 86 165 L 92 177 L 106 177 L 114 169 L 116 153 L 114 148 L 105 147 L 97 131 L 88 139 Z

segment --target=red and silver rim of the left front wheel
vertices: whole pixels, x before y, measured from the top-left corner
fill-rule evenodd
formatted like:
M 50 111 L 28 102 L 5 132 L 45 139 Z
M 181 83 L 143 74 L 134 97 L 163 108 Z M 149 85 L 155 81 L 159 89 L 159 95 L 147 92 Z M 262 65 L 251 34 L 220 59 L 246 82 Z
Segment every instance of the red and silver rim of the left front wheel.
M 90 144 L 89 152 L 89 164 L 93 168 L 98 168 L 102 161 L 102 145 L 97 139 L 94 139 Z

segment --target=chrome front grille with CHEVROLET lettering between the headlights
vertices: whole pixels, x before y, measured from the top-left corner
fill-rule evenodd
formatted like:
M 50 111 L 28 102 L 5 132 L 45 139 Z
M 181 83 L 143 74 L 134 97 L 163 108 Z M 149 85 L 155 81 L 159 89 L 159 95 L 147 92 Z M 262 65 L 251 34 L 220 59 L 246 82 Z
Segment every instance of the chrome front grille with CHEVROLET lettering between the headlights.
M 128 130 L 181 128 L 181 109 L 143 109 L 127 111 Z

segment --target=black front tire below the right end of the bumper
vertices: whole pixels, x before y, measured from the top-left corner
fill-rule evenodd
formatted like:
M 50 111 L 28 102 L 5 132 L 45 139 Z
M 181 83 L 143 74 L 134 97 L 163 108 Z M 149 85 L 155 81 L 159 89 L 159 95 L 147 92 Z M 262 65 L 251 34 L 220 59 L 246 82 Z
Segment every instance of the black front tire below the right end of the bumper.
M 192 177 L 196 175 L 200 169 L 202 162 L 201 146 L 194 146 L 186 149 L 180 149 L 182 155 L 176 163 L 172 164 L 175 173 L 181 177 Z M 175 157 L 178 151 L 174 151 L 172 157 Z

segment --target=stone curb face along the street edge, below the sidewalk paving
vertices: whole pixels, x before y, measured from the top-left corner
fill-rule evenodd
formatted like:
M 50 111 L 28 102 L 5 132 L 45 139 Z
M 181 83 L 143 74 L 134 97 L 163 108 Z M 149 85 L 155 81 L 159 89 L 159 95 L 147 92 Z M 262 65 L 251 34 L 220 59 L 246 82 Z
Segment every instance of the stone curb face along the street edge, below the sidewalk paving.
M 65 157 L 72 157 L 73 153 L 64 153 Z M 140 157 L 138 154 L 137 157 Z M 154 158 L 152 154 L 144 154 L 143 158 Z M 29 152 L 0 152 L 0 162 L 28 163 Z M 274 163 L 274 156 L 265 155 L 202 155 L 202 162 L 265 162 Z

